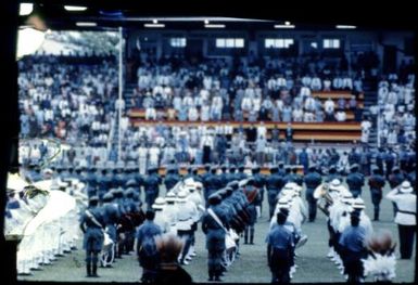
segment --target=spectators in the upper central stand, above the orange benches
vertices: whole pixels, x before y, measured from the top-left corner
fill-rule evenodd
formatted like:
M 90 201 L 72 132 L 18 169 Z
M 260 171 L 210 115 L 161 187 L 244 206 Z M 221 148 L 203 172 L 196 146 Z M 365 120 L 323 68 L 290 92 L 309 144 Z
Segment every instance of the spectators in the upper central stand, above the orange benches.
M 345 121 L 349 109 L 360 111 L 362 78 L 332 73 L 325 62 L 321 68 L 313 63 L 302 69 L 293 61 L 279 60 L 267 61 L 263 68 L 248 60 L 207 60 L 190 66 L 180 59 L 167 57 L 159 64 L 147 59 L 137 70 L 138 85 L 127 102 L 144 109 L 145 119 Z M 307 70 L 295 72 L 300 69 Z M 331 90 L 345 90 L 352 98 L 322 102 L 313 95 L 313 91 Z

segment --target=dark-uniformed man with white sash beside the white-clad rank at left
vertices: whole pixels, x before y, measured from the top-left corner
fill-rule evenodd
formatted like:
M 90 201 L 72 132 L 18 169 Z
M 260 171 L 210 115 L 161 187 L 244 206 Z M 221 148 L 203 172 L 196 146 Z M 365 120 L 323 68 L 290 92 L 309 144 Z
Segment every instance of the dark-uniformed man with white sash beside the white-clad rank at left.
M 99 252 L 103 247 L 105 222 L 102 209 L 98 205 L 99 197 L 90 197 L 88 208 L 81 215 L 79 223 L 84 233 L 83 248 L 86 250 L 87 277 L 99 277 Z

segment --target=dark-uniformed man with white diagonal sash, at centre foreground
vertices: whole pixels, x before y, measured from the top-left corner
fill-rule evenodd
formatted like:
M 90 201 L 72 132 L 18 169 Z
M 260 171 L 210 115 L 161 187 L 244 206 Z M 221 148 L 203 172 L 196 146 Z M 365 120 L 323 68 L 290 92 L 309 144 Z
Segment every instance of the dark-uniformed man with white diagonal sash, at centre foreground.
M 208 197 L 208 210 L 202 218 L 202 231 L 206 235 L 208 281 L 221 281 L 221 259 L 225 247 L 225 228 L 229 229 L 226 212 L 220 208 L 221 198 L 217 194 Z M 216 218 L 215 218 L 216 217 Z

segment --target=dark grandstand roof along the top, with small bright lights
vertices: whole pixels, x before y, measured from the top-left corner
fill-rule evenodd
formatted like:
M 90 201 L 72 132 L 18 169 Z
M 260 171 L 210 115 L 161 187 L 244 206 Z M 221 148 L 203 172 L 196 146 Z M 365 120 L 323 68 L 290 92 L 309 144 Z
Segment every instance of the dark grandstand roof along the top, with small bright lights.
M 109 29 L 118 26 L 144 28 L 143 24 L 157 18 L 165 29 L 204 29 L 204 20 L 225 24 L 226 29 L 275 29 L 275 25 L 290 22 L 295 29 L 334 30 L 335 25 L 356 25 L 359 29 L 413 29 L 414 9 L 403 5 L 383 5 L 371 9 L 360 3 L 341 3 L 340 8 L 325 8 L 318 3 L 289 1 L 280 9 L 271 3 L 226 5 L 225 1 L 92 1 L 92 0 L 35 0 L 36 10 L 51 29 Z M 87 7 L 86 11 L 69 12 L 64 4 Z M 275 4 L 277 7 L 277 4 Z M 395 17 L 394 15 L 397 15 Z M 402 16 L 401 16 L 402 15 Z M 169 17 L 169 18 L 167 18 Z M 214 18 L 215 17 L 215 18 Z M 211 20 L 212 18 L 212 20 Z M 151 21 L 150 21 L 151 20 Z M 392 21 L 391 21 L 392 20 Z M 94 22 L 96 27 L 78 27 L 77 22 Z

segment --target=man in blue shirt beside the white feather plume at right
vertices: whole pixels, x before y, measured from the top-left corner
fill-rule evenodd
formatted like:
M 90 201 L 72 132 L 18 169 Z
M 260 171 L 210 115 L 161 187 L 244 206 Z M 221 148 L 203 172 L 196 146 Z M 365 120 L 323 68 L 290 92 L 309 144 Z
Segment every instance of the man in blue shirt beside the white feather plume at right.
M 359 212 L 353 211 L 351 225 L 341 233 L 339 238 L 339 251 L 343 260 L 344 272 L 349 275 L 349 283 L 359 283 L 364 277 L 362 259 L 367 256 L 366 231 L 359 226 Z

